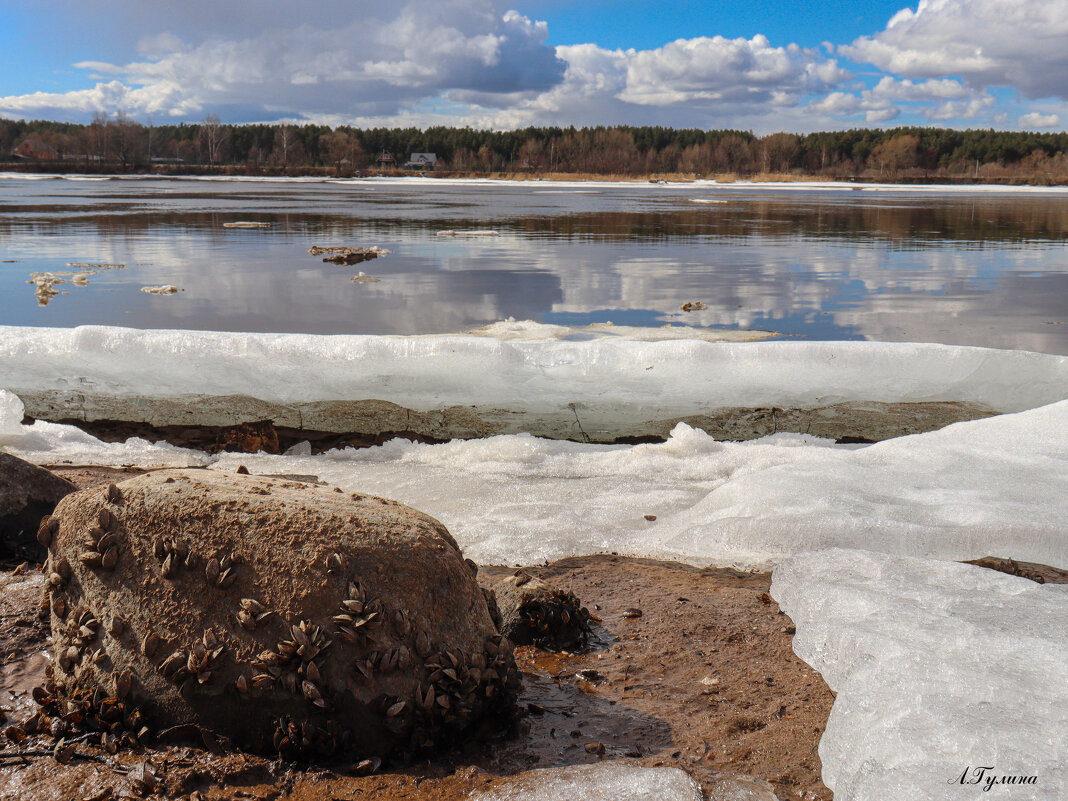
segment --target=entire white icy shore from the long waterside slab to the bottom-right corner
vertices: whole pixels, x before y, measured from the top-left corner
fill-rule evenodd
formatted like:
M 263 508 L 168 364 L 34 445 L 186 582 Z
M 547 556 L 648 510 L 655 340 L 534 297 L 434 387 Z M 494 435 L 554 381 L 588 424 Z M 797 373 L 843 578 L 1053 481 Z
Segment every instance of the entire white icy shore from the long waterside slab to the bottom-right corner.
M 314 475 L 438 517 L 482 563 L 616 552 L 778 565 L 772 592 L 797 624 L 795 648 L 839 693 L 820 745 L 836 798 L 971 798 L 987 776 L 1034 775 L 1011 797 L 1046 799 L 1068 787 L 1068 593 L 939 560 L 1068 568 L 1066 376 L 1064 357 L 938 345 L 0 329 L 0 387 L 131 402 L 374 393 L 441 408 L 475 392 L 617 418 L 633 406 L 828 398 L 1015 412 L 861 447 L 797 434 L 722 442 L 680 423 L 657 444 L 518 434 L 213 456 L 25 426 L 22 403 L 0 390 L 0 447 L 37 464 Z M 993 767 L 972 784 L 983 766 Z

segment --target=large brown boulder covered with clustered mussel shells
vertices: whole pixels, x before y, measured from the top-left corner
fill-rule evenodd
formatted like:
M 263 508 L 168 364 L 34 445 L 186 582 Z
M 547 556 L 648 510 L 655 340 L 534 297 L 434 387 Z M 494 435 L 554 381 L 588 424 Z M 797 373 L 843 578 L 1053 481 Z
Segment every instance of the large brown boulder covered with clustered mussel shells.
M 408 756 L 514 703 L 512 645 L 459 548 L 393 501 L 157 471 L 68 496 L 42 539 L 56 698 L 93 725 L 122 718 L 112 734 Z

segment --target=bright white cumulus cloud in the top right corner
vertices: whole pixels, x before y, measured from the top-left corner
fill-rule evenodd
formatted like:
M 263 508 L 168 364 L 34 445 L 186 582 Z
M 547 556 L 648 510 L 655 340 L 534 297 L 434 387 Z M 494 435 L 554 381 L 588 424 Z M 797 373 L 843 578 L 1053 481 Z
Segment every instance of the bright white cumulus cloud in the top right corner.
M 907 78 L 960 76 L 976 88 L 1068 97 L 1066 42 L 1062 0 L 920 0 L 838 52 Z

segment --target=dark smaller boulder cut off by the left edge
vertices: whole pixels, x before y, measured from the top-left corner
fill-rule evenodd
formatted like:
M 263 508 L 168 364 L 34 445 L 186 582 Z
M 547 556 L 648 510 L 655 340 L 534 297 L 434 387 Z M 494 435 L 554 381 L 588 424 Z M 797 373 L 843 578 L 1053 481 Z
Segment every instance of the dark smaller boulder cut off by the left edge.
M 0 559 L 43 555 L 37 544 L 41 519 L 74 490 L 65 478 L 0 453 Z

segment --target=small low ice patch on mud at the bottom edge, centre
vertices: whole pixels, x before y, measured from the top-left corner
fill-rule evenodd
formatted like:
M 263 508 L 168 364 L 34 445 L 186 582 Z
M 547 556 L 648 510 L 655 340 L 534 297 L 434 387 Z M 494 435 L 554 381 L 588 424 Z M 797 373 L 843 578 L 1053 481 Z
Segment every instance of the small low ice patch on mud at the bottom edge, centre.
M 703 801 L 701 786 L 678 768 L 614 761 L 520 773 L 471 801 Z

